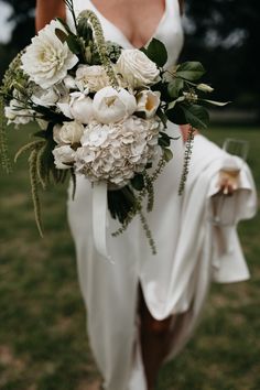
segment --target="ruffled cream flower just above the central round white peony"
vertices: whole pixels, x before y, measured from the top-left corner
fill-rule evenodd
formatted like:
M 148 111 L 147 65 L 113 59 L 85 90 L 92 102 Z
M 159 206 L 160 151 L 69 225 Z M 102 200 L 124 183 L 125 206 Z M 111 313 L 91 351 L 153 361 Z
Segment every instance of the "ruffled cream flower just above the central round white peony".
M 109 86 L 109 77 L 102 66 L 79 65 L 76 72 L 76 82 L 82 88 L 88 88 L 91 93 Z

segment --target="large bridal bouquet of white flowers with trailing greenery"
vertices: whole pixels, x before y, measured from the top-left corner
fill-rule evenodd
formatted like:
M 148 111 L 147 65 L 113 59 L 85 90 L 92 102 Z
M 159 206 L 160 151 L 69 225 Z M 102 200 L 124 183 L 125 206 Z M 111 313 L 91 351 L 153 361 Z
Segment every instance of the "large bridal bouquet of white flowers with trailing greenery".
M 122 232 L 139 214 L 152 250 L 151 231 L 143 214 L 153 205 L 153 182 L 172 158 L 167 120 L 189 123 L 182 192 L 191 156 L 194 128 L 207 127 L 203 105 L 213 104 L 199 93 L 212 91 L 198 83 L 201 63 L 186 62 L 165 69 L 167 52 L 152 40 L 148 47 L 123 50 L 106 42 L 93 11 L 76 18 L 75 26 L 52 21 L 10 64 L 0 89 L 4 115 L 17 126 L 35 121 L 35 139 L 15 155 L 29 153 L 35 219 L 42 234 L 39 185 L 51 178 L 64 182 L 76 174 L 102 192 L 102 199 Z M 6 126 L 1 126 L 1 151 L 8 166 Z M 26 130 L 26 126 L 24 128 Z M 101 188 L 101 189 L 100 189 Z M 94 210 L 95 212 L 95 210 Z M 106 219 L 104 217 L 104 219 Z

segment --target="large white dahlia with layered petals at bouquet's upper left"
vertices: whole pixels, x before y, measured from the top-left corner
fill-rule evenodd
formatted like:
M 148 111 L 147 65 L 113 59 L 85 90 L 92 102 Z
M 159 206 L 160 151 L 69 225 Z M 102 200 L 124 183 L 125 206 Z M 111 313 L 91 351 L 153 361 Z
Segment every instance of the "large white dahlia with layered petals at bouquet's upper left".
M 56 28 L 61 29 L 61 23 L 52 21 L 42 29 L 21 57 L 22 69 L 43 89 L 59 83 L 78 62 L 67 43 L 56 36 Z

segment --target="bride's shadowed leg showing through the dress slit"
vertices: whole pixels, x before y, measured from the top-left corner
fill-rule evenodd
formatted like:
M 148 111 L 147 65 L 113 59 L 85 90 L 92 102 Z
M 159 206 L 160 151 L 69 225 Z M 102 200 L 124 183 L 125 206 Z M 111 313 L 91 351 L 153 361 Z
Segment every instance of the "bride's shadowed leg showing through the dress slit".
M 188 313 L 189 311 L 163 321 L 153 318 L 140 288 L 140 340 L 148 390 L 155 389 L 159 369 L 178 338 Z

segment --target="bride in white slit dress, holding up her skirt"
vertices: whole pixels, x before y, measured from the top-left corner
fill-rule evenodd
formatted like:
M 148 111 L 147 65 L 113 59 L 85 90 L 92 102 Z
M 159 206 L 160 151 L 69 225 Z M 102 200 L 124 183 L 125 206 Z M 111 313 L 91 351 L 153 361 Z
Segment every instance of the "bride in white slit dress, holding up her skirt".
M 107 40 L 133 48 L 156 37 L 167 48 L 167 66 L 176 63 L 183 45 L 182 0 L 74 0 L 74 6 L 76 13 L 96 12 Z M 37 0 L 36 29 L 54 17 L 72 22 L 63 0 Z M 237 223 L 256 212 L 249 169 L 242 165 L 234 187 L 220 174 L 227 153 L 196 134 L 185 192 L 178 196 L 187 131 L 169 123 L 167 132 L 177 138 L 174 158 L 155 183 L 154 209 L 147 216 L 156 256 L 150 253 L 137 218 L 118 238 L 109 235 L 117 228 L 110 218 L 108 246 L 113 263 L 106 261 L 94 247 L 87 223 L 89 182 L 78 176 L 75 201 L 68 197 L 89 340 L 108 390 L 154 389 L 162 362 L 189 338 L 209 282 L 249 278 L 236 232 Z M 232 195 L 226 199 L 229 224 L 214 226 L 210 219 L 221 192 Z

